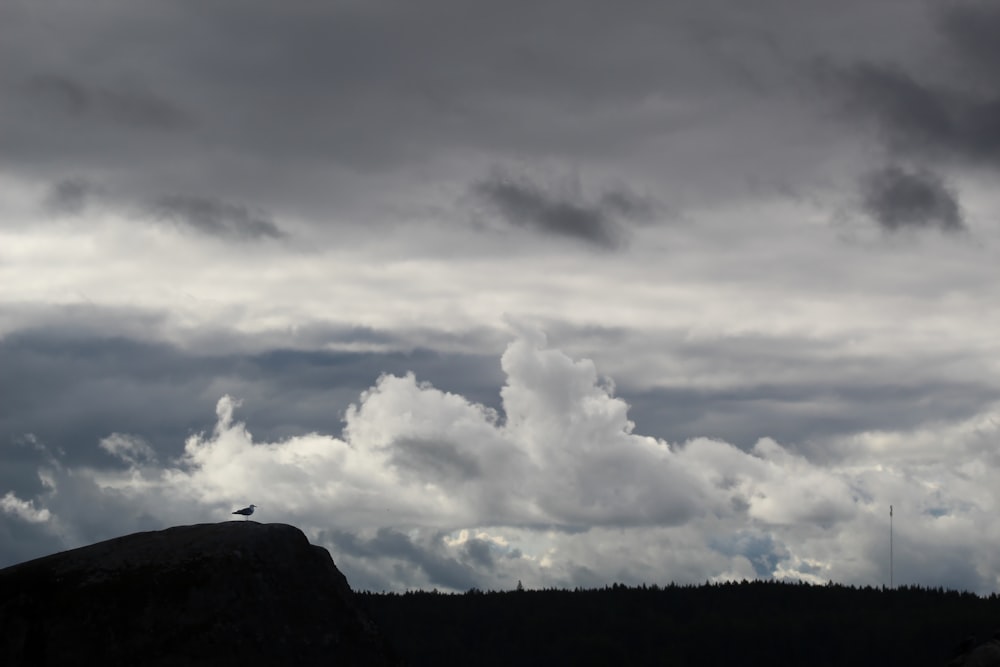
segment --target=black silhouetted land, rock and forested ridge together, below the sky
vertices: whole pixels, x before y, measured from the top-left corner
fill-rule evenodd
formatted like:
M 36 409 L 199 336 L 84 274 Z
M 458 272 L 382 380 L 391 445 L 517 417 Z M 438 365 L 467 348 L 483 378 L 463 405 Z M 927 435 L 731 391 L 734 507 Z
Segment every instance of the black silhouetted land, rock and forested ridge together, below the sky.
M 253 521 L 137 533 L 0 570 L 4 667 L 1000 667 L 998 628 L 996 595 L 912 587 L 354 594 L 297 528 Z

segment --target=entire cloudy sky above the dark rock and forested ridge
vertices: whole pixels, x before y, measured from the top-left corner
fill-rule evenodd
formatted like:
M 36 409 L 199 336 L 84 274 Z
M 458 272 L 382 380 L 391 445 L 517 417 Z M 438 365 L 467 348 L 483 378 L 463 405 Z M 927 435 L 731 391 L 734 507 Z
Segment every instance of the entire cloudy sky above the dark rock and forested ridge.
M 1000 8 L 0 0 L 0 566 L 1000 587 Z

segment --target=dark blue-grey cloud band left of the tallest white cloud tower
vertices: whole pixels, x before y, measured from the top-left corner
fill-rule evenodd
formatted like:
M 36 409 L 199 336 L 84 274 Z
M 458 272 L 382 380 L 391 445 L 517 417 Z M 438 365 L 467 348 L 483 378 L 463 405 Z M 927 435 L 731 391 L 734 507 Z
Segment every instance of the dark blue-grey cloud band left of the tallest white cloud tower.
M 212 406 L 226 393 L 244 400 L 254 434 L 270 441 L 340 433 L 344 410 L 382 373 L 413 371 L 444 390 L 486 404 L 499 400 L 502 377 L 492 355 L 302 350 L 290 347 L 298 342 L 291 338 L 253 349 L 256 341 L 222 332 L 214 351 L 196 353 L 140 340 L 161 325 L 156 317 L 97 308 L 74 313 L 0 339 L 0 479 L 16 464 L 19 484 L 38 486 L 33 471 L 45 450 L 31 438 L 63 450 L 67 465 L 104 466 L 115 462 L 98 448 L 100 439 L 133 433 L 167 460 L 187 436 L 211 427 Z M 107 331 L 113 327 L 124 333 Z M 320 347 L 396 340 L 364 329 L 312 331 L 307 338 Z

